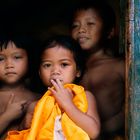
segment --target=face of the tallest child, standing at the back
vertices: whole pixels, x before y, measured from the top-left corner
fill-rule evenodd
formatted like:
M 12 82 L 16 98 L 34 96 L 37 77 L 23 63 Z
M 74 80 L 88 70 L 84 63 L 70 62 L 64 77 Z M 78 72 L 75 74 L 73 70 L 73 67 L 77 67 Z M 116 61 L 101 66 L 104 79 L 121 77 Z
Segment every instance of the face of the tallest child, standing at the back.
M 72 37 L 84 50 L 97 46 L 102 37 L 103 22 L 93 9 L 79 10 L 73 21 Z

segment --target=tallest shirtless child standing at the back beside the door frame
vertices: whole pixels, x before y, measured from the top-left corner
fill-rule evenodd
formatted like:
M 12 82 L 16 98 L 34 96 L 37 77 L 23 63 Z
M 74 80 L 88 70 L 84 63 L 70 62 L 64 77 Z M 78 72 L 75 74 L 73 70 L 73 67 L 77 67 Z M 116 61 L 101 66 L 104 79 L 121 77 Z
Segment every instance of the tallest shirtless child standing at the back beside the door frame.
M 104 1 L 80 3 L 73 14 L 71 35 L 86 56 L 81 84 L 95 95 L 103 140 L 109 140 L 105 135 L 124 132 L 125 64 L 112 44 L 115 14 Z

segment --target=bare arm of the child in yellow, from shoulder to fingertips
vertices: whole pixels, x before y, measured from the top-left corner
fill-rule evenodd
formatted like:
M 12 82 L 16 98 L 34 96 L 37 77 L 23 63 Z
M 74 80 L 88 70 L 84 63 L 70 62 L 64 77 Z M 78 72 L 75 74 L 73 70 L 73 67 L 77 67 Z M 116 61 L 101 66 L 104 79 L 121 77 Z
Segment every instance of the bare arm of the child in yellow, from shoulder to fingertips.
M 97 138 L 100 132 L 100 121 L 93 95 L 89 91 L 86 92 L 88 111 L 87 113 L 83 113 L 72 102 L 72 93 L 70 89 L 64 89 L 59 80 L 52 81 L 52 83 L 55 90 L 50 90 L 53 92 L 58 104 L 63 108 L 71 120 L 73 120 L 85 132 L 87 132 L 90 138 Z

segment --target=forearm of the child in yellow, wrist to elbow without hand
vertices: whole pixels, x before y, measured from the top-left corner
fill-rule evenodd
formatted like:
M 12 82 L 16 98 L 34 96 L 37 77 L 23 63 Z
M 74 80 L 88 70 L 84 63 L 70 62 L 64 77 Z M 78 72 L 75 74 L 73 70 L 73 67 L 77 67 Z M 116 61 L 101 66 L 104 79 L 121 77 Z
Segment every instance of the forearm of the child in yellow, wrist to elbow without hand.
M 99 135 L 100 125 L 93 117 L 81 112 L 74 104 L 65 108 L 66 114 L 73 122 L 82 128 L 90 138 L 94 139 Z

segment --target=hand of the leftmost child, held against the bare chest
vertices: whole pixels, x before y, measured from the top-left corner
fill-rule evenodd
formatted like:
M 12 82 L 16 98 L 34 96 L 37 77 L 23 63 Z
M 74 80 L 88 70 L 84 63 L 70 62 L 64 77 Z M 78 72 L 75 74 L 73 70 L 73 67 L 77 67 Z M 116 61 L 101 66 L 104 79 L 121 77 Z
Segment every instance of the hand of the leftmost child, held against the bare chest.
M 13 102 L 14 94 L 9 98 L 4 113 L 9 116 L 9 119 L 14 120 L 19 118 L 27 108 L 27 101 Z

